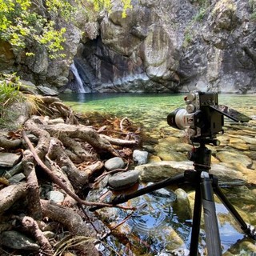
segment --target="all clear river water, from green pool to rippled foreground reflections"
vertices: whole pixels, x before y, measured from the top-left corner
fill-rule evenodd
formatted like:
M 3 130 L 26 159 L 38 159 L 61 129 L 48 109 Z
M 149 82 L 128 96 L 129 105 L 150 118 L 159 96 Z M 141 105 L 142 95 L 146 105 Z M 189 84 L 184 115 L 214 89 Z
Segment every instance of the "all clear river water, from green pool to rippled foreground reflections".
M 185 95 L 186 94 L 62 94 L 60 98 L 76 112 L 90 113 L 90 116 L 113 115 L 118 118 L 127 117 L 135 125 L 142 127 L 144 136 L 152 138 L 153 141 L 158 141 L 158 146 L 161 146 L 160 142 L 164 144 L 166 143 L 165 139 L 180 132 L 180 130 L 175 130 L 168 126 L 166 117 L 176 108 L 186 107 L 184 102 Z M 255 120 L 255 97 L 256 95 L 251 94 L 218 94 L 218 103 L 238 110 L 242 114 L 246 114 Z M 256 122 L 253 121 L 250 123 L 249 127 L 247 127 L 247 125 L 244 127 L 245 130 L 247 128 L 250 129 L 250 138 L 255 140 Z M 237 128 L 236 123 L 229 118 L 225 118 L 224 130 L 227 135 L 222 134 L 220 136 L 222 137 L 222 143 L 225 144 L 225 136 L 227 136 L 229 140 L 231 138 L 234 143 L 231 145 L 232 143 L 230 143 L 230 141 L 229 144 L 220 147 L 219 154 L 234 150 L 238 155 L 241 152 L 244 157 L 250 155 L 252 157 L 250 161 L 253 162 L 253 164 L 251 170 L 246 170 L 254 172 L 256 146 L 250 144 L 250 150 L 230 147 L 234 145 L 235 147 L 240 147 L 246 145 L 246 143 L 241 143 L 237 140 L 242 138 L 241 136 L 244 136 L 244 134 L 241 131 L 241 126 L 238 125 Z M 249 135 L 246 134 L 245 137 L 247 138 Z M 238 138 L 238 136 L 240 137 Z M 161 158 L 164 157 L 165 156 L 161 155 Z M 222 161 L 220 162 L 223 163 Z M 224 166 L 229 166 L 230 164 L 230 162 L 225 162 L 224 160 Z M 236 168 L 236 166 L 234 167 Z M 245 211 L 245 214 L 247 214 L 246 220 L 250 217 L 249 219 L 252 225 L 255 225 L 256 218 L 251 218 L 251 216 L 254 216 L 251 210 L 255 211 L 256 209 L 255 182 L 250 182 L 250 184 L 242 186 L 242 189 L 234 187 L 226 188 L 225 192 L 232 199 L 232 203 L 235 203 L 237 207 Z M 241 197 L 241 200 L 238 199 L 239 197 Z M 159 196 L 159 194 L 146 194 L 141 198 L 133 199 L 132 204 L 143 206 L 146 202 L 147 206 L 134 213 L 132 218 L 122 225 L 122 229 L 119 231 L 126 234 L 126 237 L 130 240 L 131 246 L 135 248 L 131 249 L 134 255 L 173 255 L 170 254 L 170 251 L 174 249 L 175 242 L 178 243 L 180 241 L 182 241 L 180 248 L 178 251 L 175 251 L 175 253 L 177 255 L 188 254 L 187 249 L 190 244 L 191 222 L 190 220 L 184 219 L 181 221 L 182 218 L 178 216 L 173 209 L 174 200 L 174 194 L 169 194 L 167 198 L 165 196 Z M 216 203 L 216 208 L 221 222 L 219 225 L 224 254 L 227 256 L 254 255 L 256 242 L 250 238 L 248 240 L 242 231 L 239 230 L 238 225 L 234 224 L 232 217 L 227 217 L 227 210 L 222 203 Z M 107 215 L 110 216 L 110 222 L 122 221 L 122 218 L 127 217 L 126 212 L 116 209 L 108 214 L 110 214 Z M 206 241 L 203 230 L 200 234 L 202 237 L 199 246 L 201 251 L 200 255 L 204 255 Z M 102 246 L 104 248 L 104 255 L 118 255 L 116 253 L 117 251 L 121 255 L 130 255 L 129 253 L 126 254 L 129 249 L 124 242 L 119 243 L 112 236 L 108 238 L 107 242 L 111 249 L 107 250 L 107 246 Z

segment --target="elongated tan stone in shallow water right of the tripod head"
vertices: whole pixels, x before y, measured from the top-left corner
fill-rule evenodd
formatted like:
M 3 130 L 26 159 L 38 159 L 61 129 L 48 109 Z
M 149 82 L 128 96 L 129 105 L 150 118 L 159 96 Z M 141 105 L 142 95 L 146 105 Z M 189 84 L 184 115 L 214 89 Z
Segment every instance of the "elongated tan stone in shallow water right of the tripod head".
M 235 152 L 229 151 L 219 151 L 216 154 L 216 158 L 218 158 L 221 162 L 242 162 L 246 167 L 252 165 L 252 160 L 244 154 L 237 154 Z

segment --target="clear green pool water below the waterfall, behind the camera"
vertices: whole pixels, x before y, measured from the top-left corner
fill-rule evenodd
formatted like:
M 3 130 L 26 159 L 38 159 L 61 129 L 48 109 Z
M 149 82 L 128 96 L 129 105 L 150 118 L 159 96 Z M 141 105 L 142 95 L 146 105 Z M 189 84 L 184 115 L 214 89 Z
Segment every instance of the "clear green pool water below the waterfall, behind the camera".
M 186 108 L 186 94 L 62 94 L 60 98 L 80 113 L 98 112 L 127 117 L 143 127 L 150 137 L 158 138 L 168 129 L 167 115 L 178 107 Z M 234 108 L 250 117 L 256 115 L 256 95 L 218 94 L 218 104 Z

